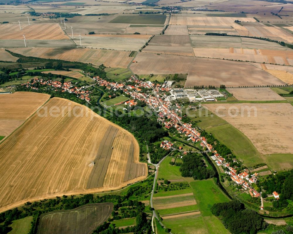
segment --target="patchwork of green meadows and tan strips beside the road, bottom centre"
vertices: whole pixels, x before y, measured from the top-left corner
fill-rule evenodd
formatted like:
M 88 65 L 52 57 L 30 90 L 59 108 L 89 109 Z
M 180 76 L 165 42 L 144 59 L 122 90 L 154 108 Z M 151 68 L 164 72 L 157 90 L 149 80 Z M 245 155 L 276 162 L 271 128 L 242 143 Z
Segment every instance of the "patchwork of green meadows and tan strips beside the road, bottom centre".
M 164 191 L 164 187 L 160 189 L 159 186 L 159 191 L 154 194 L 154 208 L 163 218 L 162 223 L 176 234 L 215 233 L 216 230 L 220 233 L 229 233 L 210 211 L 214 203 L 229 201 L 214 180 L 194 181 L 192 178 L 182 177 L 179 166 L 169 164 L 171 160 L 171 157 L 167 157 L 160 164 L 158 178 L 182 182 L 170 184 L 181 184 L 180 189 Z

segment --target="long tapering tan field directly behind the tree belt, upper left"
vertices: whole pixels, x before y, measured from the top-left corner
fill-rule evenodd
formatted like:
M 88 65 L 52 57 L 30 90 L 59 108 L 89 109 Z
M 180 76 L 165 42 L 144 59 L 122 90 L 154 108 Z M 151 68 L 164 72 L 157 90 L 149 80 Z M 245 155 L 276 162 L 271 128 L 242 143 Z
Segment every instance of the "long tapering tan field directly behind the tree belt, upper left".
M 104 64 L 108 67 L 127 68 L 132 60 L 132 57 L 129 57 L 130 52 L 105 49 L 11 48 L 9 50 L 25 56 L 34 56 L 45 59 L 62 59 L 72 62 L 78 61 L 92 63 L 94 65 Z

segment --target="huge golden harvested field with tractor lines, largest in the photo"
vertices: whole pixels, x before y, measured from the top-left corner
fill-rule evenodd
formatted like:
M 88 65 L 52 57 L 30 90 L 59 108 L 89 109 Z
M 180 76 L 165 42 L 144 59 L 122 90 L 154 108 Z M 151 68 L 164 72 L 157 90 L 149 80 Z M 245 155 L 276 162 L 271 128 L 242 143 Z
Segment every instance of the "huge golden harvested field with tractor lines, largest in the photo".
M 0 155 L 0 212 L 26 201 L 118 189 L 147 176 L 132 134 L 62 98 L 50 99 L 2 142 Z

